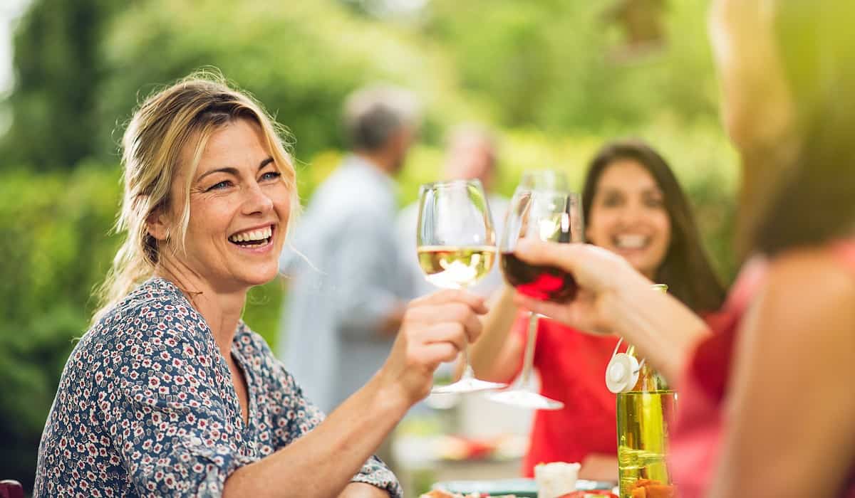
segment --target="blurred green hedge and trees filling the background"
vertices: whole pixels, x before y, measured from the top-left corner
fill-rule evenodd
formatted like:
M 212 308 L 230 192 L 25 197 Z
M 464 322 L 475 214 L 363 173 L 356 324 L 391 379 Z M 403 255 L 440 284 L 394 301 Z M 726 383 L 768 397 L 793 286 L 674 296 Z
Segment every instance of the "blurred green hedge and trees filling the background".
M 497 190 L 528 168 L 581 185 L 605 140 L 647 139 L 675 167 L 724 278 L 735 261 L 735 157 L 716 116 L 706 0 L 669 2 L 661 50 L 628 56 L 612 2 L 432 0 L 378 17 L 382 0 L 35 0 L 15 34 L 0 137 L 0 477 L 32 483 L 62 366 L 107 271 L 121 186 L 117 144 L 139 100 L 199 67 L 251 91 L 294 138 L 308 199 L 342 155 L 347 93 L 383 80 L 422 98 L 426 125 L 400 200 L 437 179 L 448 126 L 480 120 L 500 143 Z M 284 285 L 251 291 L 245 319 L 276 342 Z

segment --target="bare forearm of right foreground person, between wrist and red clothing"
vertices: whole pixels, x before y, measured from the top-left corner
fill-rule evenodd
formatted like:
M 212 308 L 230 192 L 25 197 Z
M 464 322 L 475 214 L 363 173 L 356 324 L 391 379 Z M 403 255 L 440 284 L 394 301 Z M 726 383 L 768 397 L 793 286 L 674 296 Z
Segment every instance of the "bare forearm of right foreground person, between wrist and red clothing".
M 603 296 L 612 331 L 633 344 L 669 382 L 681 375 L 689 354 L 710 331 L 705 321 L 673 296 L 651 289 L 644 278 Z

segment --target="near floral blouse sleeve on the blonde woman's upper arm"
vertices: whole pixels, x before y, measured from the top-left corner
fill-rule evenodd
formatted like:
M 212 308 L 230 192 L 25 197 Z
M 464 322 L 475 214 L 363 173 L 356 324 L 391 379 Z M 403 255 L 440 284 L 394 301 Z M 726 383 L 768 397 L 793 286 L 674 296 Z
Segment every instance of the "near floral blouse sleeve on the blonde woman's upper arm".
M 115 401 L 102 405 L 121 464 L 140 496 L 220 496 L 251 462 L 234 407 L 203 343 L 146 336 L 122 354 Z

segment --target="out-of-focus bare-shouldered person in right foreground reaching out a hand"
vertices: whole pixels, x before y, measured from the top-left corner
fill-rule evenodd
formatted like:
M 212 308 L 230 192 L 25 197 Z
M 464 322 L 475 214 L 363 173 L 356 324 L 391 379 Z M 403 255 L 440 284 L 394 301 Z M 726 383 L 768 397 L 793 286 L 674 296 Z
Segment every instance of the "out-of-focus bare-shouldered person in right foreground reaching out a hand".
M 855 496 L 852 19 L 851 0 L 712 5 L 749 259 L 711 327 L 604 249 L 517 251 L 581 286 L 573 302 L 521 305 L 626 337 L 676 384 L 681 496 Z

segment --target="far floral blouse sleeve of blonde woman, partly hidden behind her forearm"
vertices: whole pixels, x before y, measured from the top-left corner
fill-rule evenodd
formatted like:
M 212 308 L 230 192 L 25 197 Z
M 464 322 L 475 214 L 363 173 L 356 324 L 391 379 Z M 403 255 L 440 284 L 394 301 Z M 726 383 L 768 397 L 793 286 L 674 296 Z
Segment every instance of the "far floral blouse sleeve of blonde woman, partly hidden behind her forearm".
M 270 366 L 268 382 L 271 384 L 270 399 L 277 403 L 281 410 L 276 410 L 277 419 L 274 423 L 283 429 L 281 437 L 283 446 L 293 442 L 298 437 L 304 436 L 317 425 L 321 424 L 324 414 L 303 395 L 293 376 L 286 372 L 285 366 L 276 360 L 267 343 L 257 334 L 253 335 L 253 342 L 257 350 L 264 357 L 263 363 Z M 398 478 L 389 470 L 389 467 L 376 456 L 371 456 L 363 464 L 362 469 L 353 476 L 352 483 L 367 483 L 380 489 L 385 489 L 390 496 L 399 498 L 404 495 L 398 483 Z

